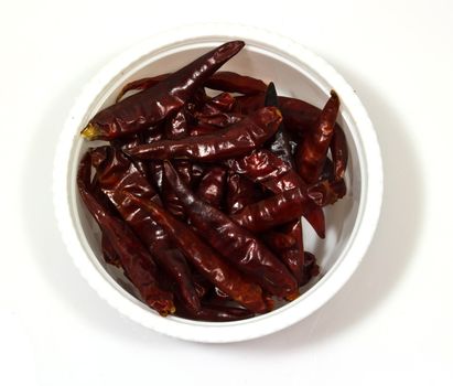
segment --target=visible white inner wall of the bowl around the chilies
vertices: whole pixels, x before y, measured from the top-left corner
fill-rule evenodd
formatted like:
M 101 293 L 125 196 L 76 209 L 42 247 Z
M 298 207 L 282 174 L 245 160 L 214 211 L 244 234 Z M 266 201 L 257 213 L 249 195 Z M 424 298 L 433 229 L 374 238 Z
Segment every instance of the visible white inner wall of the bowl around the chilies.
M 206 37 L 203 41 L 188 40 L 163 46 L 141 56 L 111 78 L 108 85 L 101 89 L 86 111 L 78 128 L 82 129 L 99 109 L 112 104 L 120 88 L 126 83 L 144 76 L 175 71 L 222 42 L 222 40 L 214 37 Z M 317 107 L 322 107 L 325 104 L 331 90 L 330 85 L 326 84 L 315 69 L 308 67 L 298 58 L 288 56 L 284 52 L 254 41 L 247 41 L 246 47 L 222 69 L 255 76 L 265 82 L 272 81 L 280 95 L 294 96 Z M 339 95 L 339 97 L 342 97 L 342 95 Z M 335 265 L 341 262 L 345 256 L 344 251 L 356 224 L 362 193 L 362 176 L 355 139 L 357 128 L 355 127 L 347 106 L 342 106 L 338 122 L 344 128 L 349 148 L 349 163 L 346 172 L 348 193 L 335 205 L 325 208 L 326 237 L 324 240 L 314 234 L 308 223 L 304 222 L 303 224 L 305 249 L 315 254 L 321 267 L 321 275 L 303 288 L 304 294 L 299 298 L 296 302 L 303 301 L 304 297 L 310 296 L 312 291 L 316 290 L 325 275 L 334 269 Z M 68 200 L 72 219 L 78 234 L 77 236 L 91 264 L 105 279 L 116 290 L 136 302 L 137 305 L 148 309 L 137 299 L 138 297 L 133 287 L 122 274 L 104 262 L 100 251 L 100 234 L 98 227 L 85 210 L 75 184 L 77 165 L 82 156 L 88 147 L 95 147 L 100 143 L 87 142 L 78 136 L 78 132 L 75 132 L 74 136 L 71 162 L 68 165 Z M 291 307 L 291 303 L 285 307 Z M 154 313 L 152 310 L 148 310 L 150 313 Z M 171 318 L 182 323 L 204 323 L 185 321 L 174 317 Z

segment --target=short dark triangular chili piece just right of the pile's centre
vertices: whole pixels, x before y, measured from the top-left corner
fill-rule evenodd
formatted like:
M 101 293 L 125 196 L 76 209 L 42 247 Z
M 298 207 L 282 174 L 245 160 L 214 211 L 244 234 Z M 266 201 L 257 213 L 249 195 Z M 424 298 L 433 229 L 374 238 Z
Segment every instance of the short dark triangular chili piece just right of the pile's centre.
M 245 206 L 262 199 L 262 192 L 250 180 L 240 174 L 229 173 L 227 178 L 227 213 L 239 212 Z

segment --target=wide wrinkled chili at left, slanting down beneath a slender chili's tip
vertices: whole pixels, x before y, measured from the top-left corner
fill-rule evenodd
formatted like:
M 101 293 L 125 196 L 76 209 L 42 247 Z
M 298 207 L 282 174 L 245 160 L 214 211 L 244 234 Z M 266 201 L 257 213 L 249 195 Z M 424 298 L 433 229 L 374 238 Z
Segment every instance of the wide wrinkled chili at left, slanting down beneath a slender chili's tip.
M 121 217 L 148 247 L 159 267 L 175 280 L 187 307 L 194 310 L 199 309 L 199 299 L 196 296 L 184 256 L 171 246 L 169 236 L 145 211 L 120 194 L 120 191 L 127 191 L 160 204 L 160 197 L 151 184 L 116 148 L 96 148 L 91 151 L 91 159 L 103 192 L 107 194 Z

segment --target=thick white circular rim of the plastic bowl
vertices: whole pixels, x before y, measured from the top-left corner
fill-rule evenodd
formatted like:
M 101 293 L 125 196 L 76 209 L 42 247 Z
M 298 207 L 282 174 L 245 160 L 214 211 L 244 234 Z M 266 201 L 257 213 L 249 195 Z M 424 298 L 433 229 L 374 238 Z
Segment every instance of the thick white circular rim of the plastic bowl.
M 132 296 L 125 297 L 87 258 L 77 237 L 67 194 L 67 187 L 71 185 L 68 181 L 71 150 L 74 137 L 78 135 L 74 126 L 80 120 L 79 117 L 86 114 L 93 100 L 116 75 L 148 52 L 194 39 L 205 41 L 244 39 L 265 46 L 279 47 L 279 51 L 296 57 L 341 95 L 343 105 L 350 111 L 350 118 L 360 128 L 358 139 L 363 149 L 366 149 L 358 152 L 362 167 L 362 197 L 354 226 L 355 234 L 352 236 L 354 243 L 349 243 L 341 264 L 334 265 L 326 272 L 322 286 L 317 287 L 316 283 L 316 291 L 310 297 L 298 299 L 299 301 L 289 304 L 291 307 L 283 307 L 270 314 L 239 322 L 209 323 L 184 320 L 182 323 L 177 318 L 164 319 L 150 312 Z M 324 60 L 290 37 L 268 30 L 233 23 L 199 23 L 163 31 L 133 45 L 104 66 L 83 88 L 69 111 L 57 142 L 53 170 L 53 201 L 57 226 L 75 266 L 90 287 L 121 314 L 147 328 L 170 336 L 205 343 L 238 342 L 265 336 L 296 323 L 325 304 L 350 278 L 368 249 L 380 215 L 382 189 L 382 161 L 375 129 L 359 98 L 346 81 Z M 357 223 L 362 224 L 359 228 L 356 226 Z

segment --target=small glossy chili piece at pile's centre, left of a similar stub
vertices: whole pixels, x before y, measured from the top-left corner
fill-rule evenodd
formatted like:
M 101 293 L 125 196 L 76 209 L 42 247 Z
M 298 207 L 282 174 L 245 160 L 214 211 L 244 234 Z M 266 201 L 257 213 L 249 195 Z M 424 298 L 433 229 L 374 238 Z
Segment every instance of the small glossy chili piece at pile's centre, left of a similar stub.
M 218 210 L 224 206 L 226 173 L 225 168 L 222 167 L 208 169 L 196 190 L 196 195 L 199 199 Z

